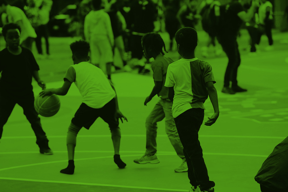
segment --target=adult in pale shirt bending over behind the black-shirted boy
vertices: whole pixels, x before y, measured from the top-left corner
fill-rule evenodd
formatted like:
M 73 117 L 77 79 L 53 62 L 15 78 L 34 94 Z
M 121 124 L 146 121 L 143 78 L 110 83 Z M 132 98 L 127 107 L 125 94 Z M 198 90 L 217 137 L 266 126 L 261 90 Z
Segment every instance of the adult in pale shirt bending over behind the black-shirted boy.
M 7 0 L 0 0 L 0 14 L 6 13 L 8 23 L 16 23 L 21 28 L 20 44 L 27 49 L 32 49 L 32 43 L 37 37 L 34 28 L 26 17 L 25 13 L 18 7 L 8 4 Z M 7 24 L 6 20 L 2 20 L 3 25 Z

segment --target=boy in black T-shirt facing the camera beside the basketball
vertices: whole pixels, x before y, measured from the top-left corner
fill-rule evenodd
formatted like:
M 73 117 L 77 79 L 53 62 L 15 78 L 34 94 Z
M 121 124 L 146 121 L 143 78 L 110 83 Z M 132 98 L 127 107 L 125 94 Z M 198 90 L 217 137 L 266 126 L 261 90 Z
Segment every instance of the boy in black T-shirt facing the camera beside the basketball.
M 21 28 L 18 24 L 9 23 L 3 27 L 3 36 L 8 45 L 0 52 L 0 139 L 3 126 L 7 122 L 15 104 L 19 104 L 24 115 L 31 123 L 36 135 L 40 153 L 51 155 L 46 133 L 43 131 L 40 118 L 34 108 L 32 77 L 45 89 L 45 83 L 39 78 L 39 66 L 32 52 L 20 44 Z

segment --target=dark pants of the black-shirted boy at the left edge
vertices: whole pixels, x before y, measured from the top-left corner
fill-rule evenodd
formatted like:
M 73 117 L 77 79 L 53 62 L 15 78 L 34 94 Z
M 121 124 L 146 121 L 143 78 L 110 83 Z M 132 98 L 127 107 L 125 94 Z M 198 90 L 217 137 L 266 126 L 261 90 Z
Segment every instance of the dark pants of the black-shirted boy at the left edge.
M 2 137 L 3 126 L 6 124 L 15 107 L 15 104 L 17 103 L 23 108 L 24 115 L 31 123 L 31 127 L 37 138 L 36 144 L 39 146 L 39 148 L 49 148 L 46 133 L 42 129 L 40 118 L 38 117 L 38 113 L 34 108 L 33 92 L 21 93 L 19 95 L 14 94 L 8 94 L 3 89 L 0 93 L 0 139 Z

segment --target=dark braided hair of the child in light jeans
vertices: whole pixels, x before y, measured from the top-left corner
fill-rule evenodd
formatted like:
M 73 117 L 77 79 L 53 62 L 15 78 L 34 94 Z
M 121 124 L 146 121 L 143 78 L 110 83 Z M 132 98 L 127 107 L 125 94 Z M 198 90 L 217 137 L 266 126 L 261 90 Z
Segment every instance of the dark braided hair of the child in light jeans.
M 147 50 L 151 50 L 152 53 L 158 54 L 163 52 L 163 47 L 166 53 L 165 43 L 162 37 L 158 33 L 147 33 L 142 37 L 143 47 L 145 46 Z

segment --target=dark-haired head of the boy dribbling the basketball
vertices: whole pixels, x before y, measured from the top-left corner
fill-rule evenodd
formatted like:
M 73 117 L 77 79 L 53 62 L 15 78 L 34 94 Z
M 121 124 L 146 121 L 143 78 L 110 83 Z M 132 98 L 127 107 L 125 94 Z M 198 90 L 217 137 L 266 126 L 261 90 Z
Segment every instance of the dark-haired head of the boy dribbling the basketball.
M 74 56 L 78 59 L 84 59 L 88 57 L 90 45 L 86 41 L 75 41 L 74 43 L 70 44 L 70 49 Z

